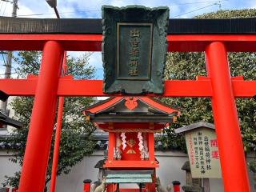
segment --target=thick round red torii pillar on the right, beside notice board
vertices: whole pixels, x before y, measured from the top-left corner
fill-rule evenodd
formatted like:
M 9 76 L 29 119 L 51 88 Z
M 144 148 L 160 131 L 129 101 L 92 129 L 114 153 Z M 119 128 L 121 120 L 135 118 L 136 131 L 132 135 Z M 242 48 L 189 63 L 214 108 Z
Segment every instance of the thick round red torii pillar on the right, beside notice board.
M 212 42 L 206 47 L 222 179 L 226 192 L 247 192 L 250 191 L 250 185 L 226 55 L 222 42 Z

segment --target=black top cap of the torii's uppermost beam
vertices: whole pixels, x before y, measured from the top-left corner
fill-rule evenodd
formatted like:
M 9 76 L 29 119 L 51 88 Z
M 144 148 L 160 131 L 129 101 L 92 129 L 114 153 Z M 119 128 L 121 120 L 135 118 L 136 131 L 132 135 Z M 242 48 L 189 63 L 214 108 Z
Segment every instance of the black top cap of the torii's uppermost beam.
M 256 18 L 170 18 L 167 34 L 255 34 Z M 2 34 L 102 34 L 101 18 L 0 18 Z

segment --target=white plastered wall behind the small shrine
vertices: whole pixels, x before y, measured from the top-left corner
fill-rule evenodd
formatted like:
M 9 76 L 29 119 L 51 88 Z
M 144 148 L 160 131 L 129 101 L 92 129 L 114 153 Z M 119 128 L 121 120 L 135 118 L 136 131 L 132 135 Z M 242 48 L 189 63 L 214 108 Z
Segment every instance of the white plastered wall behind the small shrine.
M 0 183 L 4 181 L 5 175 L 12 175 L 14 171 L 19 170 L 19 166 L 8 160 L 10 154 L 0 151 Z M 97 180 L 98 169 L 94 168 L 95 164 L 103 158 L 103 151 L 96 151 L 90 157 L 85 157 L 82 162 L 74 166 L 70 174 L 62 175 L 57 178 L 56 192 L 82 192 L 84 179 L 90 178 L 92 181 Z M 182 170 L 184 162 L 188 160 L 187 155 L 177 151 L 156 151 L 156 158 L 159 162 L 157 175 L 160 177 L 162 186 L 170 184 L 174 180 L 185 185 L 186 174 Z M 253 161 L 254 155 L 250 154 L 247 160 Z M 234 168 L 235 169 L 235 168 Z M 251 190 L 254 188 L 253 175 L 250 175 Z M 0 184 L 0 186 L 2 186 Z M 210 179 L 210 191 L 222 192 L 222 179 Z

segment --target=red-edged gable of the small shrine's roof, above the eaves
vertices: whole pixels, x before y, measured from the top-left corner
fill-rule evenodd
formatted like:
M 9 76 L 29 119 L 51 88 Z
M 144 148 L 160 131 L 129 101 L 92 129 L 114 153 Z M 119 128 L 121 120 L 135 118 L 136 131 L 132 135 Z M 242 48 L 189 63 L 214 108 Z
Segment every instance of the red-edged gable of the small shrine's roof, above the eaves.
M 177 109 L 167 106 L 165 103 L 159 102 L 154 98 L 148 97 L 111 97 L 102 102 L 95 103 L 92 106 L 83 110 L 83 114 L 104 114 L 108 112 L 116 112 L 115 107 L 121 102 L 125 102 L 124 108 L 127 108 L 129 112 L 142 112 L 135 110 L 138 104 L 146 106 L 153 114 L 179 114 Z

